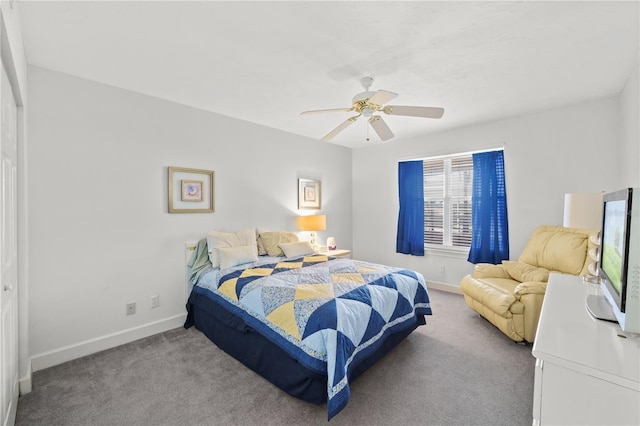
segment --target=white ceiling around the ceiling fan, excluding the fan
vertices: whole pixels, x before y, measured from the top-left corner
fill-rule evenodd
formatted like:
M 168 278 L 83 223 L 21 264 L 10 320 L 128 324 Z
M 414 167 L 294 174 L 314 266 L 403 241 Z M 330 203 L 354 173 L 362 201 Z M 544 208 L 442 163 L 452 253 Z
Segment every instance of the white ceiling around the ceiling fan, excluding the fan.
M 361 92 L 445 108 L 384 143 L 620 93 L 638 1 L 19 1 L 29 63 L 320 139 Z M 353 115 L 353 114 L 351 114 Z M 361 119 L 333 139 L 380 142 Z M 324 143 L 324 142 L 323 142 Z

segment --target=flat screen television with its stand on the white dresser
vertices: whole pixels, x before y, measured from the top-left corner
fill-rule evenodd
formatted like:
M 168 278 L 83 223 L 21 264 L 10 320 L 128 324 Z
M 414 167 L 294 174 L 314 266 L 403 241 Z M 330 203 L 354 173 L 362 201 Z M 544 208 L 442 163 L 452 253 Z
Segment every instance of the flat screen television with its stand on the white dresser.
M 600 268 L 602 296 L 587 298 L 595 317 L 640 333 L 640 189 L 604 194 Z

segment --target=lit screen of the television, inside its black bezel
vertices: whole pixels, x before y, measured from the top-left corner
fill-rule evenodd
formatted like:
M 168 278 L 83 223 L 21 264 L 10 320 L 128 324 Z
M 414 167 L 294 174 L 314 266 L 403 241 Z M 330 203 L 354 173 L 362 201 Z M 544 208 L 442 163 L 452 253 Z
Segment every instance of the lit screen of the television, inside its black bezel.
M 608 201 L 604 205 L 601 268 L 620 295 L 624 271 L 626 200 Z

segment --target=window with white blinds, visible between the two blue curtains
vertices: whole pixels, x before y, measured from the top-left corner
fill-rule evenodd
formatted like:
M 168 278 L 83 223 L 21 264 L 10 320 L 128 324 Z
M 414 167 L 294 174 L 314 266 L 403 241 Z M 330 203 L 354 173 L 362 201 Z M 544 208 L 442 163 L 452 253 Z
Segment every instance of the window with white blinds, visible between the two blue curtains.
M 471 245 L 471 154 L 423 161 L 425 247 Z

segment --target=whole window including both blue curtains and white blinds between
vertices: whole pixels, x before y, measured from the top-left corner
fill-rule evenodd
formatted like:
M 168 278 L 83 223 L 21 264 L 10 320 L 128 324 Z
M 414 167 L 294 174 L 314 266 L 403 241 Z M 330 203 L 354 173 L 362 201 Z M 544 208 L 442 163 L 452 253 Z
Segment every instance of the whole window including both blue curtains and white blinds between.
M 502 149 L 401 161 L 398 195 L 397 253 L 468 252 L 471 263 L 509 258 Z

